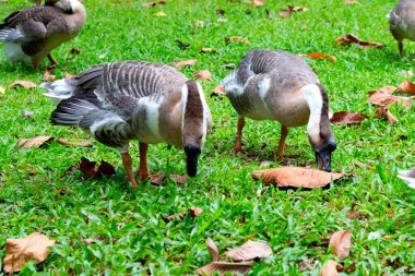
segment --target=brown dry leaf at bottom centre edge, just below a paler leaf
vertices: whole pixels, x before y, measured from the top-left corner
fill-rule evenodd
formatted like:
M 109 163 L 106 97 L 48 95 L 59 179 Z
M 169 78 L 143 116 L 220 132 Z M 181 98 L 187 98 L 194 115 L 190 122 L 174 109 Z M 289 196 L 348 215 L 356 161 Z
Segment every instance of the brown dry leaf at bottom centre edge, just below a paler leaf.
M 253 262 L 213 262 L 194 271 L 194 273 L 198 275 L 212 275 L 214 273 L 218 273 L 220 275 L 225 275 L 227 273 L 230 273 L 232 275 L 246 275 L 252 266 Z

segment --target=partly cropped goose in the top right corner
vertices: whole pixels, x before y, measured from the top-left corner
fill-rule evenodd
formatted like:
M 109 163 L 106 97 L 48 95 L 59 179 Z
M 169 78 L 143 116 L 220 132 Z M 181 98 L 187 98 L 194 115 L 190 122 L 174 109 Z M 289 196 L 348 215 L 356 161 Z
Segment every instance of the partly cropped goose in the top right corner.
M 389 27 L 403 57 L 403 39 L 415 41 L 415 1 L 400 0 L 389 14 Z

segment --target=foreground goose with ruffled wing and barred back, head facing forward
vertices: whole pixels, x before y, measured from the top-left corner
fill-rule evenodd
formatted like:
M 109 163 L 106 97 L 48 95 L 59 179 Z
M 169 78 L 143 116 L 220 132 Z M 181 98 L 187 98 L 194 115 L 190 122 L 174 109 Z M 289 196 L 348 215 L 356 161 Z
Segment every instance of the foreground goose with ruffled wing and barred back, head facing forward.
M 171 67 L 110 62 L 42 86 L 46 96 L 59 103 L 51 123 L 80 127 L 104 145 L 117 148 L 133 189 L 138 184 L 131 170 L 131 140 L 140 144 L 140 179 L 151 177 L 149 144 L 162 142 L 183 147 L 187 173 L 197 175 L 212 116 L 201 85 Z

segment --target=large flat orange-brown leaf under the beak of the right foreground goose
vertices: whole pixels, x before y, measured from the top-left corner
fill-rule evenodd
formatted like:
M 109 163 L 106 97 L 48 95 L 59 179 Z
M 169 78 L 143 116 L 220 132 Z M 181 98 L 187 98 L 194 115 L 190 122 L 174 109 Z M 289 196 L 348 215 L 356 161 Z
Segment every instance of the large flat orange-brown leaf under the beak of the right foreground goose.
M 253 171 L 256 180 L 263 177 L 262 182 L 276 184 L 278 188 L 323 188 L 331 181 L 343 178 L 342 173 L 327 172 L 323 170 L 307 169 L 300 167 L 281 167 Z

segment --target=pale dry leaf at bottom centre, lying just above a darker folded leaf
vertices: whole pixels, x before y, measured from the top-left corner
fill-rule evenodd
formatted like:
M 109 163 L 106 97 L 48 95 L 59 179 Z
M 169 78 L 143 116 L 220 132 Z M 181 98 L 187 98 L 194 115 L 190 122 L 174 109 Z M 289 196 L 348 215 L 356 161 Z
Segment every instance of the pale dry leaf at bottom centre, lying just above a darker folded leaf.
M 265 242 L 249 240 L 240 248 L 229 250 L 225 254 L 234 259 L 234 261 L 250 261 L 256 257 L 269 257 L 272 250 Z

